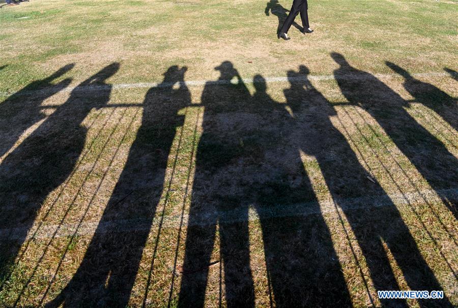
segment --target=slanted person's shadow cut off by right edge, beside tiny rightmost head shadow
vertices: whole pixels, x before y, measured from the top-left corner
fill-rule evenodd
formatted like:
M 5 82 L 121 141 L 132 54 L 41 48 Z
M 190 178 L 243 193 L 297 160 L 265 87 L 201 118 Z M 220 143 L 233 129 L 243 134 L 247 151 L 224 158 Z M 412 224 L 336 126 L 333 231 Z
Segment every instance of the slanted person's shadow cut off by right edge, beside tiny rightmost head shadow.
M 458 103 L 456 99 L 446 94 L 438 87 L 415 79 L 405 69 L 391 63 L 386 65 L 397 74 L 404 77 L 404 88 L 410 93 L 415 100 L 424 106 L 433 109 L 448 124 L 458 131 Z

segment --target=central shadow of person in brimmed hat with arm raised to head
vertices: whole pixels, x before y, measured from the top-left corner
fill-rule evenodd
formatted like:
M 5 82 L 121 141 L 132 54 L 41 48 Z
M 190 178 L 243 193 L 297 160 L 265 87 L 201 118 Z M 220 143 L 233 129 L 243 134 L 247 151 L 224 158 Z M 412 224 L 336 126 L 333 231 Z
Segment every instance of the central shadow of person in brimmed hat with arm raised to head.
M 234 186 L 234 181 L 227 180 L 228 176 L 239 178 L 235 168 L 230 167 L 234 160 L 243 157 L 243 135 L 236 126 L 240 124 L 239 116 L 243 116 L 241 109 L 249 104 L 251 96 L 231 62 L 224 61 L 215 70 L 221 74 L 218 82 L 207 82 L 202 94 L 203 134 L 196 151 L 178 306 L 204 306 L 218 225 L 227 306 L 252 307 L 254 288 L 249 264 L 248 203 L 237 195 L 243 184 Z M 234 78 L 235 83 L 231 83 Z M 226 215 L 234 210 L 240 212 L 235 222 Z

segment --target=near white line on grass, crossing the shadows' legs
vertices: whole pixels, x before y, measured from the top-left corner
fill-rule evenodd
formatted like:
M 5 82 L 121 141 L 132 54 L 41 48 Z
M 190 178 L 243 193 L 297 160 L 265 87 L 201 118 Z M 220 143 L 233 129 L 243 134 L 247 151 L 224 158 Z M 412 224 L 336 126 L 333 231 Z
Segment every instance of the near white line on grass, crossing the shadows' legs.
M 426 199 L 439 200 L 441 197 L 458 200 L 458 189 L 440 190 L 425 190 L 407 194 L 390 194 L 381 196 L 366 196 L 359 198 L 349 198 L 336 200 L 335 203 L 344 211 L 375 207 L 388 207 L 393 204 L 398 207 L 406 207 L 414 204 L 421 205 Z M 248 211 L 248 218 L 244 214 Z M 224 221 L 224 223 L 236 223 L 246 220 L 256 221 L 259 219 L 271 219 L 282 217 L 304 217 L 313 214 L 332 213 L 336 212 L 334 201 L 325 202 L 307 202 L 291 205 L 279 205 L 269 207 L 241 207 L 231 211 L 217 212 L 206 211 L 198 215 L 184 215 L 182 226 L 206 226 L 208 222 Z M 162 221 L 163 228 L 178 228 L 181 223 L 181 215 L 165 215 Z M 153 226 L 158 225 L 161 217 L 157 215 L 153 220 Z M 151 225 L 148 219 L 131 219 L 131 220 L 112 220 L 107 222 L 83 222 L 81 224 L 62 224 L 62 225 L 47 225 L 43 227 L 34 238 L 46 239 L 54 235 L 54 237 L 67 237 L 75 234 L 75 229 L 78 228 L 76 235 L 92 235 L 98 229 L 98 232 L 133 232 L 150 230 Z M 58 230 L 59 229 L 59 230 Z M 34 228 L 32 228 L 26 237 L 26 240 L 32 238 Z M 17 240 L 20 239 L 17 234 L 24 234 L 24 228 L 0 229 L 0 239 Z M 57 232 L 56 232 L 57 231 Z

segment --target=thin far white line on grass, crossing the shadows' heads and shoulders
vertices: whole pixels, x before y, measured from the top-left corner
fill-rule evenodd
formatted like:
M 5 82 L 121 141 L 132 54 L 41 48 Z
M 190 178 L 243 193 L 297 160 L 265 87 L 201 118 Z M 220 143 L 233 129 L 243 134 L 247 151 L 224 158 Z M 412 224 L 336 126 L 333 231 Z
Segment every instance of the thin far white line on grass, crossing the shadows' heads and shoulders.
M 399 74 L 372 74 L 373 76 L 381 79 L 386 78 L 402 78 Z M 449 73 L 416 73 L 411 74 L 413 77 L 447 77 L 450 76 Z M 300 82 L 305 80 L 313 80 L 313 81 L 321 81 L 321 80 L 334 80 L 334 79 L 345 79 L 345 80 L 366 80 L 366 77 L 358 76 L 358 75 L 341 75 L 341 76 L 334 76 L 334 75 L 308 75 L 308 76 L 295 76 L 295 77 L 266 77 L 264 80 L 266 83 L 275 83 L 275 82 Z M 258 83 L 264 82 L 263 81 L 256 81 L 253 78 L 243 78 L 242 81 L 244 83 Z M 83 85 L 83 86 L 74 86 L 74 87 L 67 87 L 60 90 L 60 93 L 66 93 L 71 91 L 103 91 L 109 89 L 142 89 L 142 88 L 162 88 L 162 87 L 171 87 L 175 83 L 172 82 L 142 82 L 142 83 L 119 83 L 119 84 L 111 84 L 111 85 Z M 230 84 L 231 80 L 190 80 L 184 82 L 178 82 L 180 85 L 185 85 L 188 87 L 191 86 L 203 86 L 206 84 L 209 85 L 224 85 Z M 29 94 L 46 94 L 52 93 L 55 91 L 55 87 L 47 87 L 42 89 L 36 90 L 29 90 L 21 92 L 20 90 L 15 93 L 4 93 L 0 92 L 0 96 L 13 96 L 13 95 L 29 95 Z

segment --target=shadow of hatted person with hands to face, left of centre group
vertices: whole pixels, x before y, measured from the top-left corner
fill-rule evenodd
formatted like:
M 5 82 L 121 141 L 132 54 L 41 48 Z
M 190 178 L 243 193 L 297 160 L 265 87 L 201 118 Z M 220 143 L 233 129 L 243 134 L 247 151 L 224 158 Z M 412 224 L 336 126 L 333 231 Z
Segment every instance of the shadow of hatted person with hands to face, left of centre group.
M 170 67 L 163 83 L 148 90 L 141 126 L 88 250 L 71 281 L 46 306 L 127 306 L 149 230 L 126 231 L 123 222 L 152 225 L 170 147 L 184 124 L 178 112 L 191 102 L 186 70 Z

